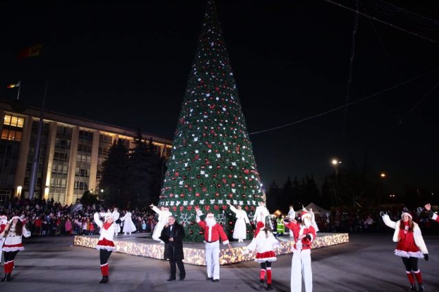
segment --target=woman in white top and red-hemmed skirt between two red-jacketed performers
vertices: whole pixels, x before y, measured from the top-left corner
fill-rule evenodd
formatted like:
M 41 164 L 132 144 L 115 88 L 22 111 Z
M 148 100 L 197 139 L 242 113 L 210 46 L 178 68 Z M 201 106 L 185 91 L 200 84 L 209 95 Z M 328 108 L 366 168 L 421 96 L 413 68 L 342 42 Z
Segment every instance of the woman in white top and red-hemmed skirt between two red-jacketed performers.
M 257 251 L 254 261 L 261 264 L 261 272 L 259 274 L 259 290 L 263 289 L 265 273 L 267 274 L 267 291 L 272 291 L 272 262 L 276 260 L 274 249 L 280 247 L 279 242 L 274 238 L 269 228 L 265 228 L 263 222 L 259 221 L 254 232 L 252 242 L 247 245 L 247 249 L 242 252 L 248 254 L 248 251 Z

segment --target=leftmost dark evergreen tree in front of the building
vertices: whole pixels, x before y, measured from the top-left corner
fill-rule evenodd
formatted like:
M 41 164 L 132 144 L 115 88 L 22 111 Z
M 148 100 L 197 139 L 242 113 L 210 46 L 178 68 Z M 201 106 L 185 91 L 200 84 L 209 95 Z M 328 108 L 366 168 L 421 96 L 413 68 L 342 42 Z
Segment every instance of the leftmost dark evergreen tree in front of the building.
M 106 204 L 126 206 L 129 201 L 129 157 L 128 149 L 121 139 L 112 143 L 108 158 L 102 162 L 100 187 L 105 190 Z

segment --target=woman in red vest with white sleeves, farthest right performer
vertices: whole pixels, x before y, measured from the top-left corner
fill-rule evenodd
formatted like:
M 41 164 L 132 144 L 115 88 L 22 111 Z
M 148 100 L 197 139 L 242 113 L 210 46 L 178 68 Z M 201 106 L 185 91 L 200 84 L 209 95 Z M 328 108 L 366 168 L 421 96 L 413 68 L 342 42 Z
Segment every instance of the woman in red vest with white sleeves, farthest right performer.
M 405 273 L 410 281 L 409 291 L 417 291 L 414 278 L 418 282 L 419 291 L 425 291 L 423 277 L 418 269 L 418 258 L 428 260 L 428 250 L 418 224 L 412 221 L 412 215 L 407 209 L 401 214 L 401 220 L 396 222 L 390 220 L 385 212 L 381 215 L 385 225 L 395 230 L 393 241 L 398 243 L 395 255 L 403 259 Z

